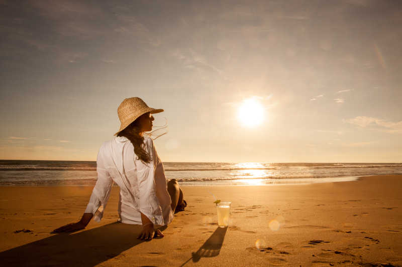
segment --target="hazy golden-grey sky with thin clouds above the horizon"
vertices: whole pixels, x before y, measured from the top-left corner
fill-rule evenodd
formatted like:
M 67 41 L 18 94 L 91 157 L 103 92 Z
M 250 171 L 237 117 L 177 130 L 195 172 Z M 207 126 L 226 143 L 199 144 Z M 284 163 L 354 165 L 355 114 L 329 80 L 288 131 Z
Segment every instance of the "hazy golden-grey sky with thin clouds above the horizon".
M 402 162 L 402 2 L 0 0 L 0 14 L 0 159 L 96 160 L 141 97 L 165 110 L 162 161 Z

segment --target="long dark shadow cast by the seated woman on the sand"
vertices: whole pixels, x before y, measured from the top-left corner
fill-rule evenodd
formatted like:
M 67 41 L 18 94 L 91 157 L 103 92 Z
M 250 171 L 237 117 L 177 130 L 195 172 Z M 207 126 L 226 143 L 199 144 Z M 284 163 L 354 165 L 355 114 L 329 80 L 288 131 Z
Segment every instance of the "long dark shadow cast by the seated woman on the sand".
M 140 232 L 141 225 L 114 222 L 78 233 L 60 233 L 0 252 L 1 263 L 4 266 L 94 266 L 143 242 L 137 239 Z

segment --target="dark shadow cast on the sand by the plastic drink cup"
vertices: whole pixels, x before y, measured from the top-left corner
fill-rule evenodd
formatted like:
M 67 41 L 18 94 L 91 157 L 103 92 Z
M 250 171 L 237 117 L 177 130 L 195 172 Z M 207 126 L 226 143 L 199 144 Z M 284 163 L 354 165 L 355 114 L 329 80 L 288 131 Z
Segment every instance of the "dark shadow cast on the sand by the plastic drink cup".
M 180 267 L 184 266 L 190 259 L 192 259 L 193 262 L 197 262 L 202 257 L 218 256 L 219 252 L 221 252 L 222 243 L 227 230 L 228 227 L 218 227 L 210 238 L 208 238 L 196 252 L 192 252 L 192 256 L 181 264 Z

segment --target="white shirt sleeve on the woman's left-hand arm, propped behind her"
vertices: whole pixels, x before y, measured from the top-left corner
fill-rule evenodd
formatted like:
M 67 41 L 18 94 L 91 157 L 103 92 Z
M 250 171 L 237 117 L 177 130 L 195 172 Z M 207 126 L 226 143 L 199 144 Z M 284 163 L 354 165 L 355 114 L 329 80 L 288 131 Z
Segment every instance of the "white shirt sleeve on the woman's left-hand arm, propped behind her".
M 99 222 L 102 219 L 106 204 L 108 203 L 110 191 L 113 185 L 113 179 L 106 169 L 104 145 L 100 147 L 96 158 L 97 180 L 93 187 L 89 203 L 86 206 L 85 213 L 92 213 L 93 220 Z

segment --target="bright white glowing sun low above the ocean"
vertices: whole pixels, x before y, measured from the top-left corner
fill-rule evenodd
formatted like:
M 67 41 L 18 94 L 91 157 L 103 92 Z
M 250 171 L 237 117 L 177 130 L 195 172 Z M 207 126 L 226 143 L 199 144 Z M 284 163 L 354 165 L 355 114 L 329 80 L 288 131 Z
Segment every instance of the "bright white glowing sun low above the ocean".
M 264 107 L 255 97 L 247 98 L 239 107 L 238 118 L 246 127 L 260 125 L 264 119 Z

